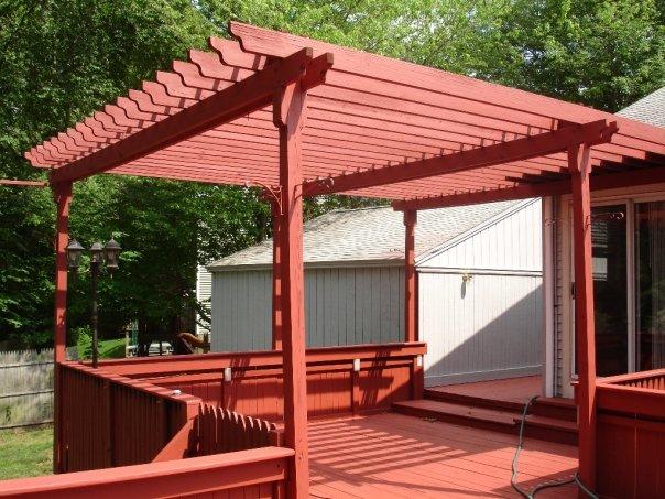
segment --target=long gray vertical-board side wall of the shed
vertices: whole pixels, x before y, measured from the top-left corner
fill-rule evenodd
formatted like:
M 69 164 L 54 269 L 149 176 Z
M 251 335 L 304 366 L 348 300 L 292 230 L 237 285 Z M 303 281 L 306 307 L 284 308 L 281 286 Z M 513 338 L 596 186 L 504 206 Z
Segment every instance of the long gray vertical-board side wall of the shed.
M 399 267 L 305 269 L 307 345 L 400 341 L 403 282 Z M 212 350 L 270 349 L 272 272 L 216 272 L 212 286 Z

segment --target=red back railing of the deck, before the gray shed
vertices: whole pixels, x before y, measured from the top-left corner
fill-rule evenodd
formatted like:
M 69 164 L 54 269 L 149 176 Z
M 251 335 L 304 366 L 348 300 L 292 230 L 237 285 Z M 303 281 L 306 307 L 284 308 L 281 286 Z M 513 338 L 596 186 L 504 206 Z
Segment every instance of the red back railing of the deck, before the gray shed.
M 384 411 L 393 402 L 419 398 L 425 350 L 422 343 L 308 349 L 309 416 Z M 280 351 L 127 359 L 103 367 L 222 409 L 282 421 Z

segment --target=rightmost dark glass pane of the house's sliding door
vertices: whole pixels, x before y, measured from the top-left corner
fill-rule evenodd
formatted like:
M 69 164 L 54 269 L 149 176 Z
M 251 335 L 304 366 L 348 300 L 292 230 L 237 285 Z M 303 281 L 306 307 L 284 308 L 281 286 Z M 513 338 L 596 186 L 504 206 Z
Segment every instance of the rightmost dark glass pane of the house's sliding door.
M 665 202 L 635 204 L 635 365 L 665 367 Z

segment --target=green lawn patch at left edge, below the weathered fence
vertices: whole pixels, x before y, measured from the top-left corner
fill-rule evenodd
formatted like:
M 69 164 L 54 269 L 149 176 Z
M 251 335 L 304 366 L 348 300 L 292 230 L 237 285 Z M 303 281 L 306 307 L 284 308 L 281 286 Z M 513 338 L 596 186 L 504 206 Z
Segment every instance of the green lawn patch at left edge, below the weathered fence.
M 0 480 L 51 475 L 53 427 L 0 431 Z

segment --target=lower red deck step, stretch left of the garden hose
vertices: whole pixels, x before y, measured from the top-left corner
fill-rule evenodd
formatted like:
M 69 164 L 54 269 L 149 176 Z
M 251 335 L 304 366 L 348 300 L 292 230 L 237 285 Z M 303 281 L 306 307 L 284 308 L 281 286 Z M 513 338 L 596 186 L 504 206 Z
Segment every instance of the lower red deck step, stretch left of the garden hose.
M 393 410 L 401 414 L 505 433 L 514 433 L 515 429 L 513 413 L 437 400 L 395 402 Z

